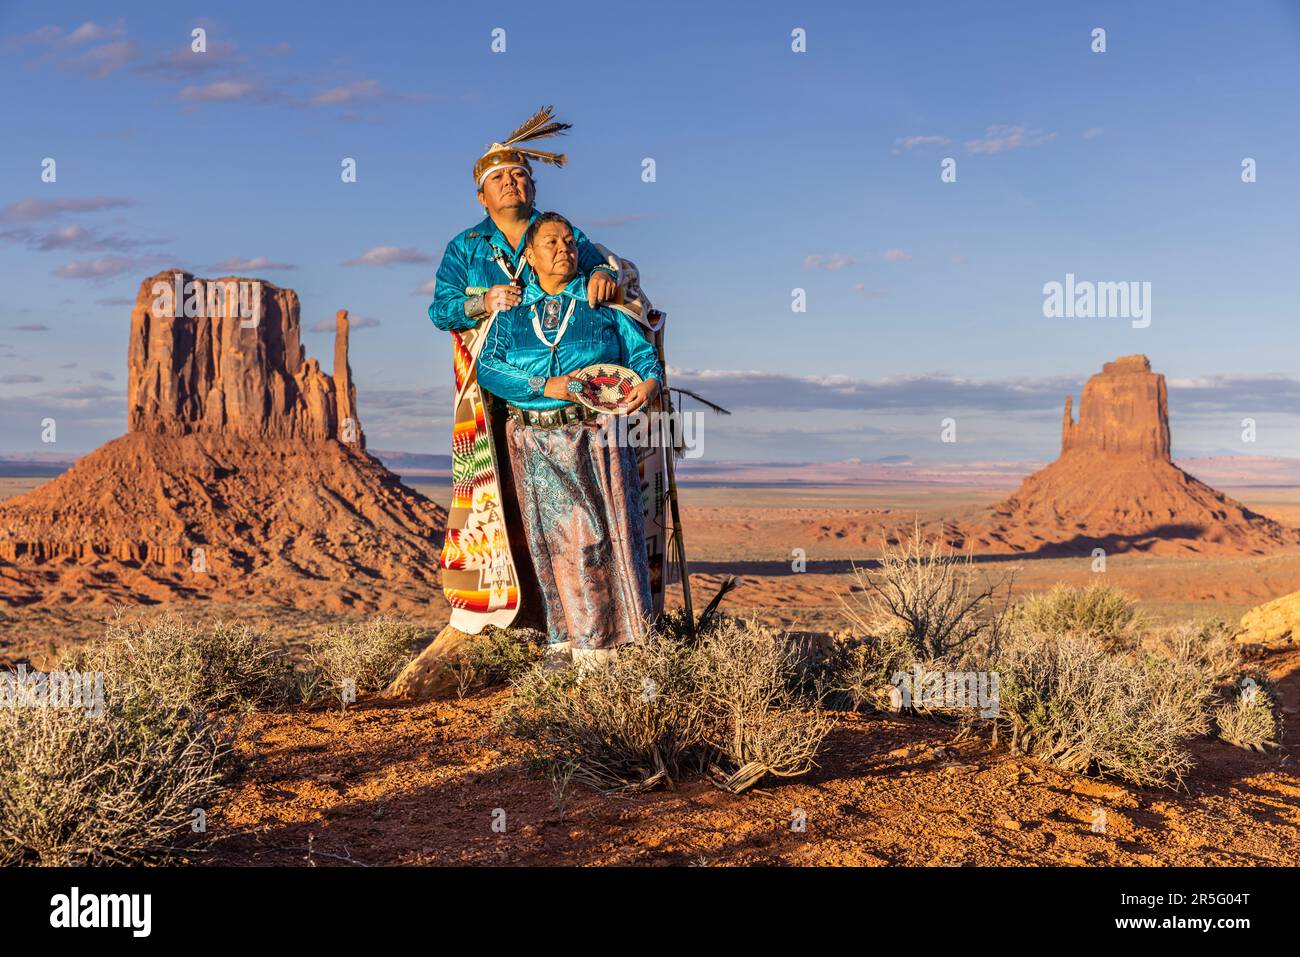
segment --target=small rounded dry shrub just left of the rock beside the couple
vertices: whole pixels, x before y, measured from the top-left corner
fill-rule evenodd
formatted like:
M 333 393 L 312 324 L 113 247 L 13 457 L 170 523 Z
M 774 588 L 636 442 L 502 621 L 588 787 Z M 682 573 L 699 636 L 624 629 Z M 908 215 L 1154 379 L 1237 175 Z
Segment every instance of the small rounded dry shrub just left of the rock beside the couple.
M 381 692 L 415 657 L 426 629 L 390 615 L 326 629 L 307 651 L 307 659 L 332 694 L 342 694 L 351 680 L 358 693 Z

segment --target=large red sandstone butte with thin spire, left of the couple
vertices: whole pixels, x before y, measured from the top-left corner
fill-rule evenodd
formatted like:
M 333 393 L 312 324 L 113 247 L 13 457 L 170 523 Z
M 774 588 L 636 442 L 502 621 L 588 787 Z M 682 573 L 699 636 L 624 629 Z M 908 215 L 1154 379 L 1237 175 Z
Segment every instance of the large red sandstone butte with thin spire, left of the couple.
M 299 341 L 294 290 L 221 280 L 248 283 L 250 315 L 237 293 L 186 316 L 155 308 L 174 276 L 144 280 L 131 313 L 130 432 L 0 503 L 0 605 L 441 601 L 446 512 L 365 451 L 347 312 L 329 374 Z

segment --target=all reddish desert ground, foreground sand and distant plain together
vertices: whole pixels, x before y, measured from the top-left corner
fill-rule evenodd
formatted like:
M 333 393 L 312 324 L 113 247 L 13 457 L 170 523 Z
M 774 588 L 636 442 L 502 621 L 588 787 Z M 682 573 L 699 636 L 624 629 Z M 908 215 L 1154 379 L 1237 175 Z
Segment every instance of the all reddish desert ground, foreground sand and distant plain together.
M 40 480 L 0 480 L 0 497 Z M 445 503 L 445 482 L 421 485 Z M 1225 489 L 1300 525 L 1300 489 Z M 792 629 L 846 627 L 854 562 L 879 554 L 880 529 L 974 514 L 1006 489 L 688 486 L 686 546 L 697 606 L 727 575 L 724 606 Z M 792 568 L 802 549 L 806 571 Z M 1079 559 L 998 557 L 1017 593 L 1102 579 L 1154 619 L 1222 616 L 1300 589 L 1300 553 L 1254 558 L 1119 554 L 1104 576 Z M 676 590 L 676 589 L 675 589 Z M 186 616 L 233 616 L 300 648 L 342 615 L 204 602 Z M 94 637 L 110 610 L 0 606 L 0 663 L 49 667 Z M 363 612 L 348 615 L 358 618 Z M 407 618 L 439 628 L 441 596 Z M 841 714 L 820 767 L 732 796 L 703 781 L 640 797 L 580 785 L 559 794 L 495 729 L 508 692 L 421 705 L 365 702 L 347 713 L 292 709 L 250 718 L 247 772 L 212 818 L 208 863 L 1300 863 L 1300 648 L 1258 649 L 1279 684 L 1290 745 L 1269 754 L 1197 741 L 1186 791 L 1148 791 L 1058 772 L 956 728 L 916 718 Z M 495 809 L 506 831 L 491 828 Z M 797 817 L 806 830 L 792 827 Z

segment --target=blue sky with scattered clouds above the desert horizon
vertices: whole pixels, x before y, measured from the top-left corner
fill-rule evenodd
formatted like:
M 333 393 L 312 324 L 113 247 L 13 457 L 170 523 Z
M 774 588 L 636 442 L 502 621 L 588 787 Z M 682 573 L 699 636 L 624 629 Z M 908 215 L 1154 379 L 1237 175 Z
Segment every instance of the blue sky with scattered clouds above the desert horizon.
M 140 280 L 260 259 L 304 329 L 359 320 L 372 447 L 446 451 L 417 290 L 480 218 L 478 151 L 554 103 L 538 203 L 641 265 L 675 381 L 734 407 L 710 458 L 1050 458 L 1131 352 L 1175 452 L 1300 456 L 1296 3 L 0 3 L 0 449 L 121 434 Z M 1149 328 L 1044 317 L 1066 273 L 1150 282 Z

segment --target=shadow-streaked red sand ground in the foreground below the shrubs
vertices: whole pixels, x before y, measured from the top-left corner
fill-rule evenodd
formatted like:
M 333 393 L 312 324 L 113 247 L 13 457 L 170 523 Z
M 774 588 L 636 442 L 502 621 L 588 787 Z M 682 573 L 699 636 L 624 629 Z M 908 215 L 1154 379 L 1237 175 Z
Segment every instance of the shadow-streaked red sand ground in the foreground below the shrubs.
M 1270 653 L 1288 718 L 1300 649 Z M 1197 741 L 1183 793 L 1063 774 L 916 718 L 844 714 L 811 775 L 734 796 L 688 780 L 568 791 L 497 733 L 508 692 L 255 715 L 209 819 L 212 865 L 1297 865 L 1295 750 Z M 495 809 L 506 830 L 493 831 Z M 797 815 L 806 830 L 793 830 Z M 1104 832 L 1093 830 L 1104 820 Z

